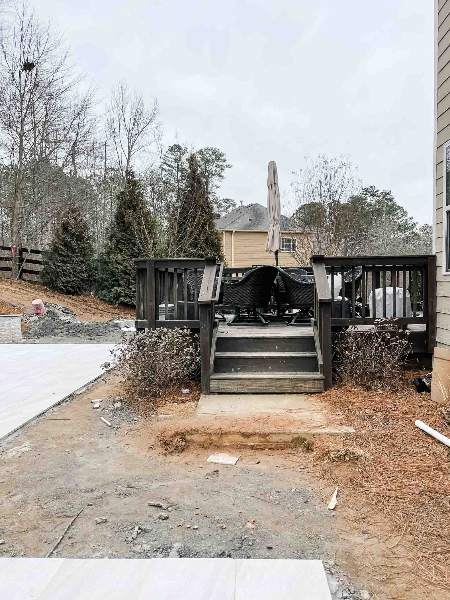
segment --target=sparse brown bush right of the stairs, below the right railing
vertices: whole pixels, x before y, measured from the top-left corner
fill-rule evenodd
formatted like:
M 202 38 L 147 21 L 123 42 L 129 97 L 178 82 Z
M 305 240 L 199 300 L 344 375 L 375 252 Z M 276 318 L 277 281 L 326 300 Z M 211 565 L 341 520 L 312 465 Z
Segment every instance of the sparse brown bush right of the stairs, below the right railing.
M 403 378 L 402 365 L 412 345 L 409 331 L 343 329 L 335 352 L 335 369 L 340 383 L 364 389 L 394 390 Z

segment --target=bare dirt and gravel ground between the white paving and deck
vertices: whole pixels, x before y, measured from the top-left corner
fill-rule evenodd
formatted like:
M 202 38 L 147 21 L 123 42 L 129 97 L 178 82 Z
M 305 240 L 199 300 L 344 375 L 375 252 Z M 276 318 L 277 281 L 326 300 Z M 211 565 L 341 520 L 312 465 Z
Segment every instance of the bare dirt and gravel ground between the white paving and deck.
M 94 398 L 103 410 L 92 409 Z M 315 558 L 333 598 L 433 597 L 401 575 L 386 578 L 383 554 L 398 537 L 383 541 L 381 516 L 327 509 L 333 488 L 317 478 L 314 449 L 241 449 L 236 466 L 206 463 L 214 448 L 163 455 L 156 440 L 166 419 L 157 415 L 188 418 L 196 403 L 143 418 L 125 404 L 115 410 L 117 400 L 110 375 L 2 443 L 0 556 L 45 556 L 84 507 L 55 556 Z

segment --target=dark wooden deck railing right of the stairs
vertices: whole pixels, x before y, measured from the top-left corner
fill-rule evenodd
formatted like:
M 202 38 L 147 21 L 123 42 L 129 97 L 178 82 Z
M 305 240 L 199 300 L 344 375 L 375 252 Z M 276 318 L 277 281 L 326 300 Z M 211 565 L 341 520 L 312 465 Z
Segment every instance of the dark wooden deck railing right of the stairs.
M 331 386 L 332 332 L 350 325 L 376 326 L 379 319 L 388 316 L 386 287 L 393 288 L 391 316 L 395 325 L 425 325 L 421 349 L 433 353 L 436 345 L 436 256 L 313 256 L 311 266 L 316 288 L 313 326 L 317 327 L 317 331 L 314 335 L 322 353 L 319 358 L 323 360 L 325 389 Z M 358 268 L 362 269 L 359 281 Z M 340 299 L 335 299 L 337 275 L 341 277 L 341 290 L 345 290 L 341 291 Z M 395 289 L 398 287 L 403 293 L 401 314 L 397 316 Z M 377 289 L 382 290 L 382 314 L 378 315 Z M 408 302 L 412 313 L 410 317 L 405 316 L 409 312 Z M 417 335 L 420 337 L 420 332 Z

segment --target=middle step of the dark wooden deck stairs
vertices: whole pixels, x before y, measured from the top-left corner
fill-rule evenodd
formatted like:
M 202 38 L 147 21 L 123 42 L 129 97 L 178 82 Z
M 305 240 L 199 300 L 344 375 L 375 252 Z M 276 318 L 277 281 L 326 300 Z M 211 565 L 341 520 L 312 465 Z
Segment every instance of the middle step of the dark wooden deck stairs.
M 318 371 L 316 352 L 217 352 L 215 373 Z

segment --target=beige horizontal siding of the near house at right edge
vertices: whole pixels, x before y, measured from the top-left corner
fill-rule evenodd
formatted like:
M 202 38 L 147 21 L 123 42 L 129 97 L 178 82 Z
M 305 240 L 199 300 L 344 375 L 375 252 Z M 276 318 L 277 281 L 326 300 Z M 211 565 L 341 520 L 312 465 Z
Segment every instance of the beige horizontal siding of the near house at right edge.
M 450 275 L 443 275 L 443 145 L 450 140 L 450 0 L 435 3 L 437 35 L 435 35 L 435 138 L 436 187 L 434 193 L 434 235 L 436 244 L 436 345 L 450 349 Z

